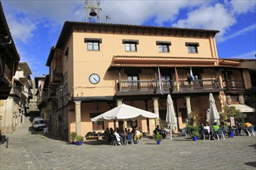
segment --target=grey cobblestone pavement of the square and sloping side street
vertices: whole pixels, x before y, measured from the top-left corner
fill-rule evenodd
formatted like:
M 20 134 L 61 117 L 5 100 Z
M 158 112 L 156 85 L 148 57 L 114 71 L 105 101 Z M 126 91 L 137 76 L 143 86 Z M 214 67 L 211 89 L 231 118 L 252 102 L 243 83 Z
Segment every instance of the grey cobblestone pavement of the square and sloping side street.
M 22 128 L 9 135 L 9 148 L 0 145 L 0 169 L 256 169 L 256 137 L 192 141 L 164 139 L 161 145 L 143 139 L 144 145 L 110 146 L 86 141 L 81 146 L 43 138 Z

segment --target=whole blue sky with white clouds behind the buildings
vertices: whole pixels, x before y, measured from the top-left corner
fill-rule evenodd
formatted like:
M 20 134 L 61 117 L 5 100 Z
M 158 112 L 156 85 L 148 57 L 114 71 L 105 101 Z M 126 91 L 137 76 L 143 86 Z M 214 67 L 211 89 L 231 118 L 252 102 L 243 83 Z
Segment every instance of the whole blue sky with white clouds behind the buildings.
M 22 62 L 32 77 L 47 74 L 50 47 L 64 21 L 85 22 L 85 1 L 2 0 Z M 194 29 L 217 29 L 220 58 L 255 59 L 256 0 L 101 0 L 102 22 Z

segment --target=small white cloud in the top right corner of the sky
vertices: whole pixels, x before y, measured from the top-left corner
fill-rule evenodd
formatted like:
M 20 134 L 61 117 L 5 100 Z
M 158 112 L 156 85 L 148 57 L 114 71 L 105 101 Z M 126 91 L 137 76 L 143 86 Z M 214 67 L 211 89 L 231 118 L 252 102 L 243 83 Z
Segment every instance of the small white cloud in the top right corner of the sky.
M 230 3 L 233 7 L 233 12 L 236 14 L 253 12 L 255 11 L 255 7 L 256 7 L 255 0 L 243 0 L 243 1 L 233 0 L 233 1 L 230 1 Z

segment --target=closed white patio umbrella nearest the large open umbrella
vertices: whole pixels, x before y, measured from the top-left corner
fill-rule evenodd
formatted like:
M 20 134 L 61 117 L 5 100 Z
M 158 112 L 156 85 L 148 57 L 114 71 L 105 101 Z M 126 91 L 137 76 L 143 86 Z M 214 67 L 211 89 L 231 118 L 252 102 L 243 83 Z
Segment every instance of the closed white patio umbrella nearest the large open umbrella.
M 175 116 L 175 107 L 173 106 L 173 101 L 171 100 L 170 94 L 168 94 L 166 106 L 167 106 L 166 122 L 170 126 L 170 134 L 171 134 L 173 127 L 177 124 L 177 119 Z M 172 136 L 170 139 L 172 140 Z

